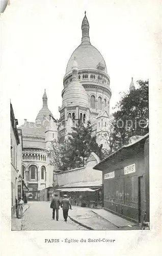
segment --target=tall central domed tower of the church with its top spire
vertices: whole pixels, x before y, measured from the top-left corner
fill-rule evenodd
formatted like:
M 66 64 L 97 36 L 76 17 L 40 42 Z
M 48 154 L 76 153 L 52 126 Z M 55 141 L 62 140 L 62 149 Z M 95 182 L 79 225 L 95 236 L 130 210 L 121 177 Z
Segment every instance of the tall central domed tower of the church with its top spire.
M 59 141 L 64 140 L 69 126 L 75 125 L 79 119 L 85 125 L 90 120 L 95 135 L 109 120 L 112 95 L 110 76 L 101 53 L 91 45 L 89 29 L 85 12 L 82 42 L 72 53 L 64 76 L 63 100 L 59 107 Z M 68 121 L 69 118 L 72 121 Z

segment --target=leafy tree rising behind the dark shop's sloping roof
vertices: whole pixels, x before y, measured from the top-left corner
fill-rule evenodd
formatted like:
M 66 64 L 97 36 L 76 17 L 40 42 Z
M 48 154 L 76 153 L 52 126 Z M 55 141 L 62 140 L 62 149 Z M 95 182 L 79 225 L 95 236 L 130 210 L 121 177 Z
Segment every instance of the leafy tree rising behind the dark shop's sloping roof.
M 128 143 L 132 136 L 143 136 L 149 131 L 148 80 L 138 80 L 139 88 L 125 94 L 113 114 L 114 150 Z

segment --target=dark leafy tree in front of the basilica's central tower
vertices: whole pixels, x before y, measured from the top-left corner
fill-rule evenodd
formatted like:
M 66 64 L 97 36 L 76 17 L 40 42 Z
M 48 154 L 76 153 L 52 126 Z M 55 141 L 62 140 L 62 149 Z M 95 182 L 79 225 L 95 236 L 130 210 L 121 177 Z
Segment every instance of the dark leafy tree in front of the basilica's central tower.
M 69 134 L 68 140 L 72 148 L 71 159 L 73 159 L 75 168 L 85 166 L 91 152 L 96 153 L 99 157 L 101 155 L 101 148 L 96 142 L 96 136 L 92 136 L 90 122 L 85 127 L 79 121 L 75 127 L 72 127 L 72 132 Z

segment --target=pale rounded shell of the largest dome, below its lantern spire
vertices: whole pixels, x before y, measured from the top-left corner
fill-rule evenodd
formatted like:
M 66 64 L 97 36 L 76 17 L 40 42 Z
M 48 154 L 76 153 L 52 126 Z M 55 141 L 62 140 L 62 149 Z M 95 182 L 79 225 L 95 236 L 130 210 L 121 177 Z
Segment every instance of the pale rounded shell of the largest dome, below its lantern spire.
M 80 44 L 72 53 L 66 68 L 66 74 L 71 72 L 74 57 L 77 61 L 78 70 L 97 70 L 100 63 L 104 66 L 104 72 L 107 73 L 105 61 L 100 52 L 90 44 L 90 42 Z

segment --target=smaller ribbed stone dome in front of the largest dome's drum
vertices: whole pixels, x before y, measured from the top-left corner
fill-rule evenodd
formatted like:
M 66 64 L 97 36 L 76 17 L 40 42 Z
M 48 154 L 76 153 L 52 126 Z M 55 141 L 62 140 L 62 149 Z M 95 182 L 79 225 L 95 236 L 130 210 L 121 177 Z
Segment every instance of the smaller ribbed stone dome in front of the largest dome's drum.
M 72 105 L 79 105 L 83 108 L 88 107 L 88 94 L 77 79 L 69 83 L 63 94 L 62 108 Z

